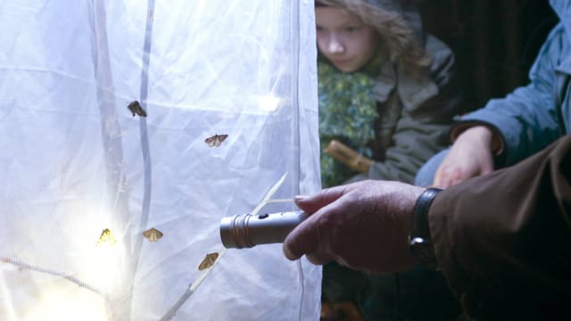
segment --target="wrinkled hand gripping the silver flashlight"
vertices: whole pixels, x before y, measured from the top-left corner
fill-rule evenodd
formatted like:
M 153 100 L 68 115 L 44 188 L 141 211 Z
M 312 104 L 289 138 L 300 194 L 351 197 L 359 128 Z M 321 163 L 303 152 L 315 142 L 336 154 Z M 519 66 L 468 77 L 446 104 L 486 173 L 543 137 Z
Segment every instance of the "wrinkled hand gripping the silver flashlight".
M 306 255 L 354 269 L 394 272 L 414 266 L 408 236 L 415 202 L 424 189 L 367 180 L 335 186 L 295 202 L 310 217 L 287 235 L 287 259 Z

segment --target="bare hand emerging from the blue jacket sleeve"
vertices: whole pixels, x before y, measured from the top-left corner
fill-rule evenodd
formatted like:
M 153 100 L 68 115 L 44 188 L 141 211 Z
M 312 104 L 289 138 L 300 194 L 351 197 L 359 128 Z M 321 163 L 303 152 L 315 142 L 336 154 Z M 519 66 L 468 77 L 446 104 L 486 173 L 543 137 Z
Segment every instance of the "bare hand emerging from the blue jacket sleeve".
M 434 186 L 450 187 L 493 170 L 492 131 L 483 126 L 463 132 L 434 174 Z

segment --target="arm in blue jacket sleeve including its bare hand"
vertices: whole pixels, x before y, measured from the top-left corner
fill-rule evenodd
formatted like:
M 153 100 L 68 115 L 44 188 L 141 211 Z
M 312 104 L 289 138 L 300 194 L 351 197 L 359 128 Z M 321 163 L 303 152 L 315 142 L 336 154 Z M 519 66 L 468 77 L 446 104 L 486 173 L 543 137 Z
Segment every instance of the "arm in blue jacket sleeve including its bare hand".
M 556 102 L 565 102 L 555 88 L 568 78 L 559 66 L 569 50 L 565 29 L 558 25 L 542 45 L 529 72 L 529 85 L 460 118 L 451 128 L 454 144 L 434 174 L 434 185 L 448 187 L 487 174 L 494 164 L 515 164 L 557 139 L 563 128 Z

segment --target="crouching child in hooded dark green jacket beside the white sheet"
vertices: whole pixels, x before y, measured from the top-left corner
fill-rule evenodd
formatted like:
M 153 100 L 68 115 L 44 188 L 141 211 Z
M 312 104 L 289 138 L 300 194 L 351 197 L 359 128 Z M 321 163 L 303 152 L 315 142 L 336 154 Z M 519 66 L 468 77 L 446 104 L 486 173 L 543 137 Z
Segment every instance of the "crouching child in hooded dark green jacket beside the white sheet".
M 365 178 L 411 183 L 449 143 L 459 113 L 453 55 L 410 28 L 400 9 L 398 0 L 316 1 L 322 147 L 336 139 L 374 161 L 354 177 L 324 153 L 324 187 Z

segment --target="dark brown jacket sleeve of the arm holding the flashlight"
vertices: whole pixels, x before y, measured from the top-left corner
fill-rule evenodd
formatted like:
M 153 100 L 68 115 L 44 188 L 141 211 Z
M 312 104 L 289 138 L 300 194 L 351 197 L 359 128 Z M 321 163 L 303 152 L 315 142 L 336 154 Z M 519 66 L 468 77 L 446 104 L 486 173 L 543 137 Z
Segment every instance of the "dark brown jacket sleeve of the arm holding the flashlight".
M 439 193 L 428 219 L 439 267 L 472 315 L 571 317 L 571 136 Z

